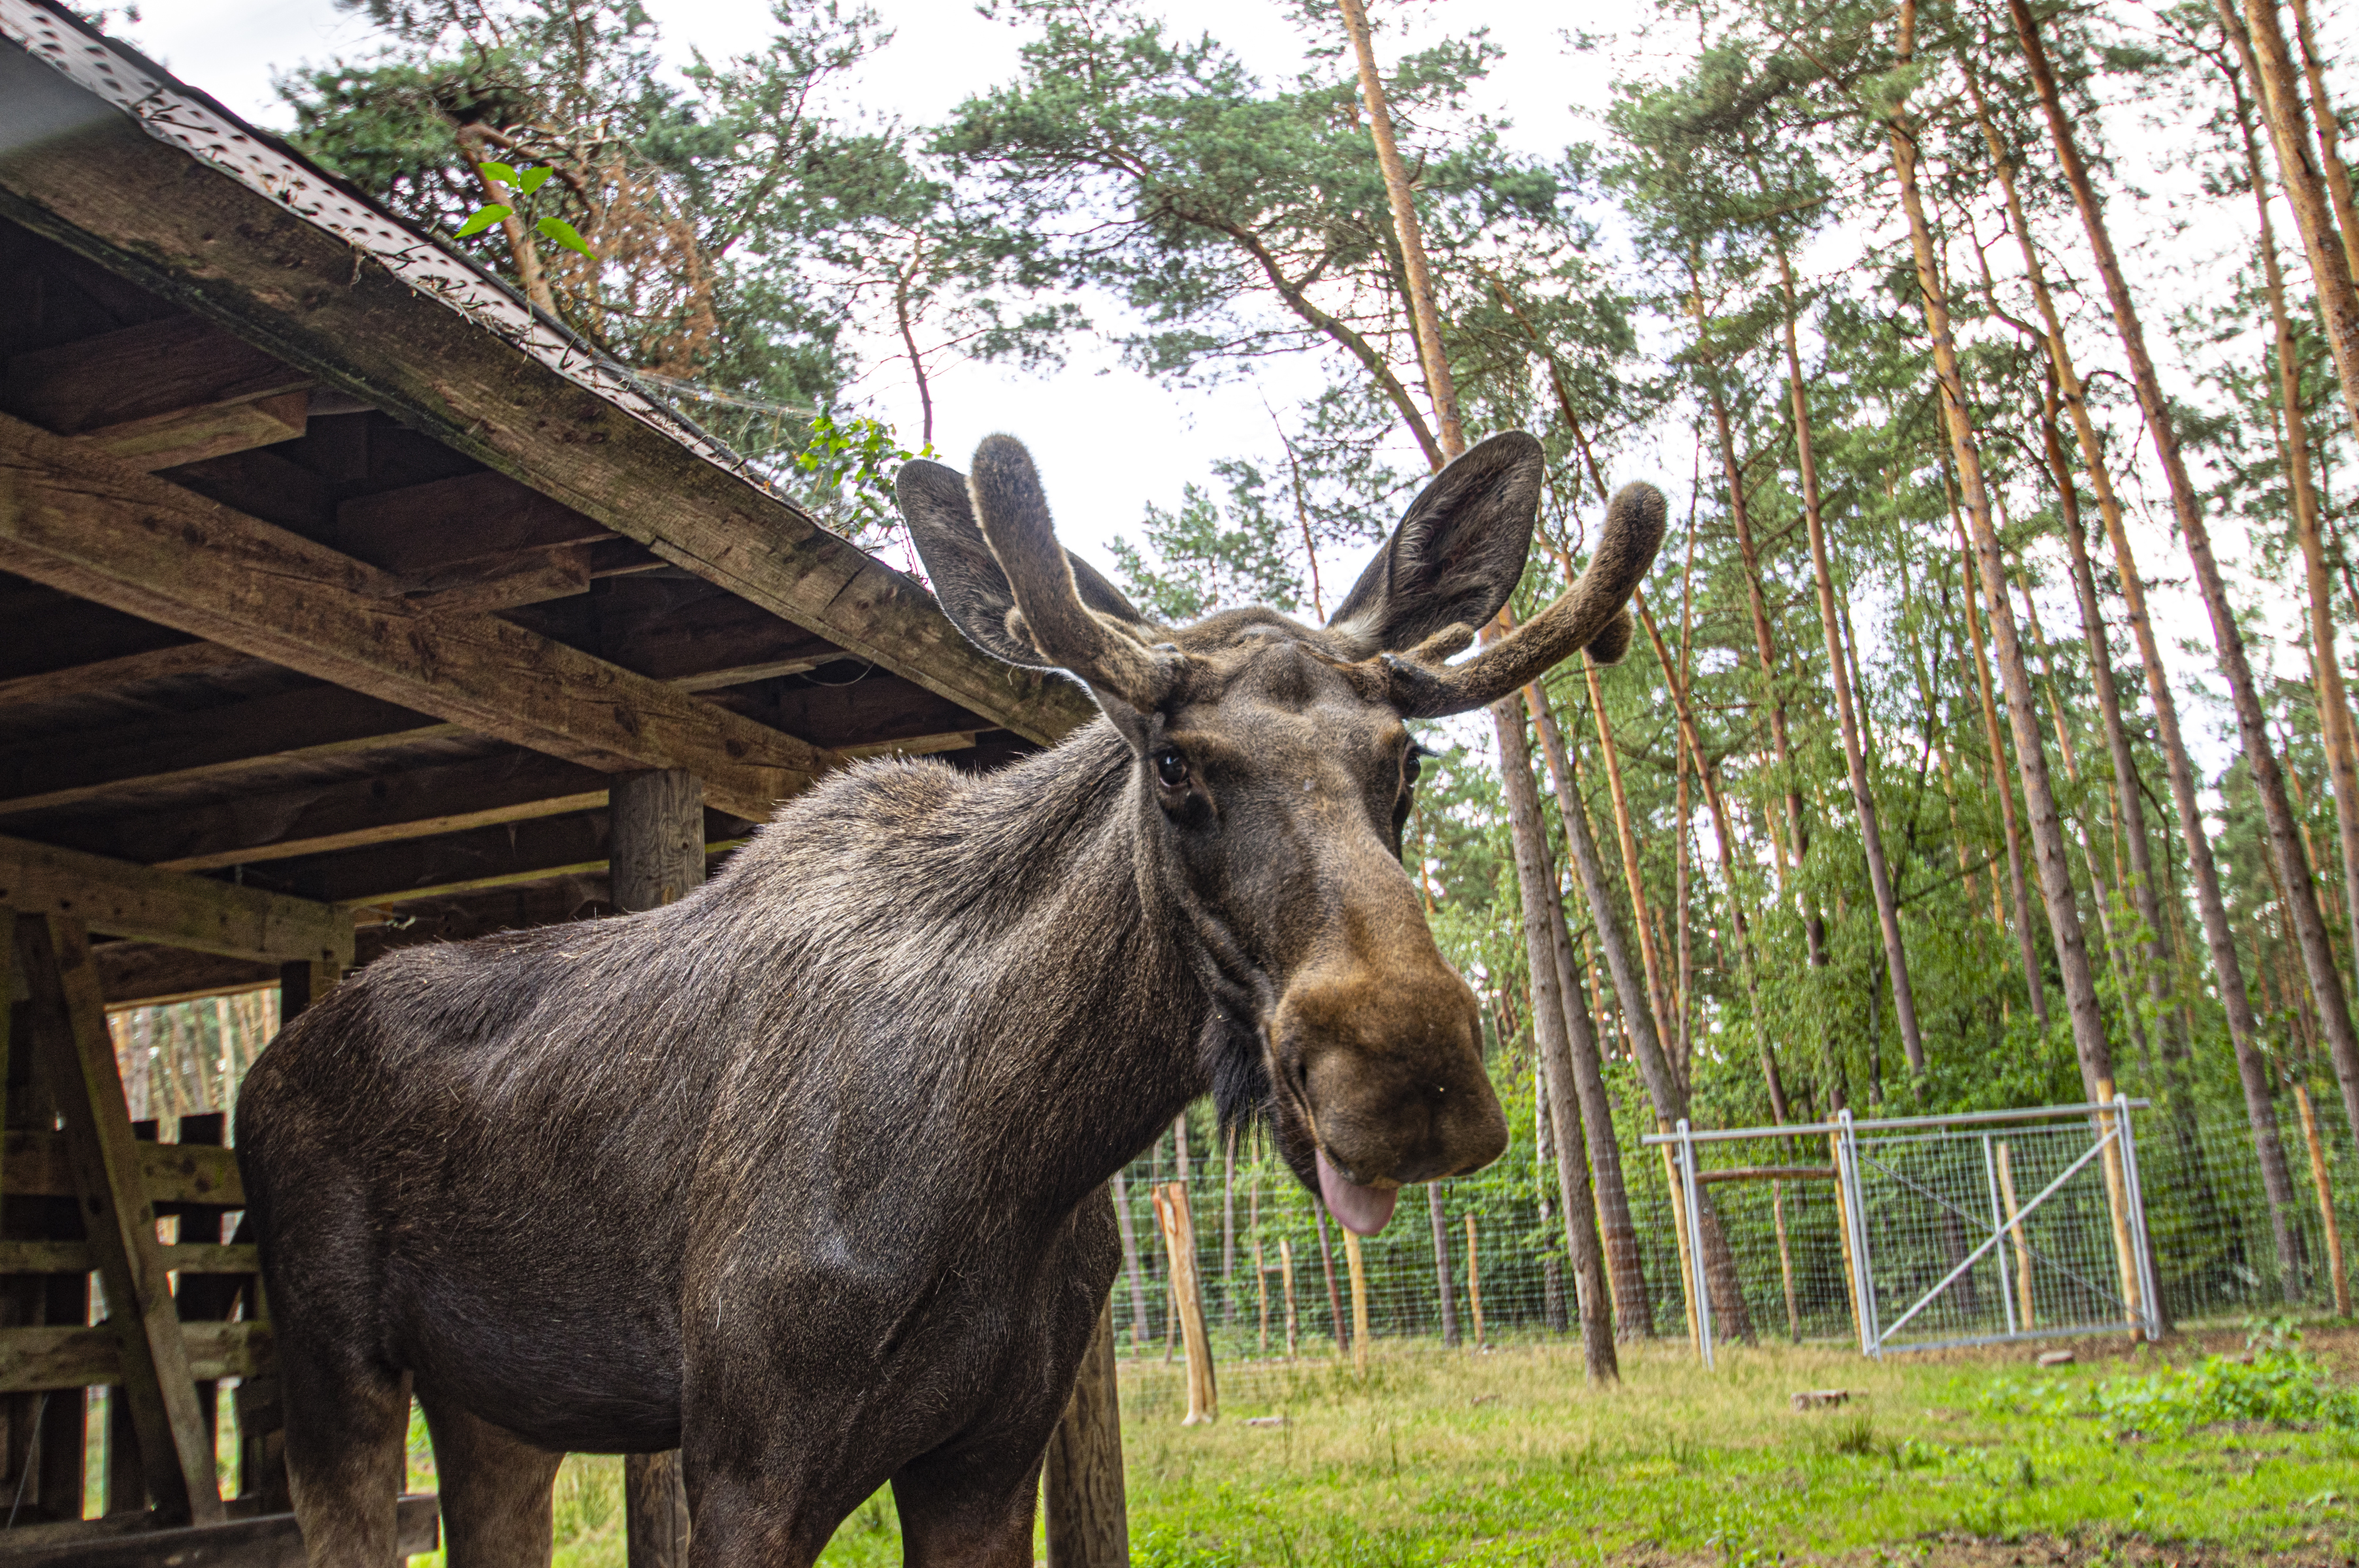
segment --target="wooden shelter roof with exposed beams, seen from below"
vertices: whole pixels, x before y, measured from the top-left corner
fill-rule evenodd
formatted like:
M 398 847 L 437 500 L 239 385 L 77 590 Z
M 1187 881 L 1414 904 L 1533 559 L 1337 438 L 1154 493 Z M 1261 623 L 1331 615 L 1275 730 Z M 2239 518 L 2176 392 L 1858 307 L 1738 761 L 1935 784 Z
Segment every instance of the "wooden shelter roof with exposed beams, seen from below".
M 616 771 L 698 773 L 722 851 L 852 757 L 1092 712 L 40 0 L 0 0 L 0 905 L 80 901 L 116 1002 L 354 917 L 366 960 L 599 913 Z

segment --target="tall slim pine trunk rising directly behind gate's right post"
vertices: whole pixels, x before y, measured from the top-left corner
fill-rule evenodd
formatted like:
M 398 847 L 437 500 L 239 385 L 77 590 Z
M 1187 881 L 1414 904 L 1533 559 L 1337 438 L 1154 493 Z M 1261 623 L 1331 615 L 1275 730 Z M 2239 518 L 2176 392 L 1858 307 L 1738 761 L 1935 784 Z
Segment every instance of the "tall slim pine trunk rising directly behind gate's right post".
M 1916 54 L 1916 0 L 1901 0 L 1901 50 L 1906 61 Z M 1965 516 L 1972 523 L 1974 556 L 1982 568 L 1982 597 L 1991 618 L 1991 641 L 1998 658 L 2000 684 L 2008 693 L 2008 722 L 2015 729 L 2015 766 L 2024 780 L 2024 816 L 2031 828 L 2031 849 L 2038 861 L 2041 891 L 2048 901 L 2048 934 L 2055 941 L 2057 971 L 2064 981 L 2064 1009 L 2071 1019 L 2074 1052 L 2081 1056 L 2081 1078 L 2090 1096 L 2109 1094 L 2114 1085 L 2114 1056 L 2104 1037 L 2104 1016 L 2097 1007 L 2097 981 L 2088 964 L 2088 941 L 2081 934 L 2081 910 L 2074 901 L 2071 865 L 2064 858 L 2064 825 L 2057 816 L 2055 790 L 2048 780 L 2048 750 L 2041 740 L 2038 705 L 2031 696 L 2031 677 L 2024 670 L 2024 648 L 2015 634 L 2015 606 L 2008 599 L 2005 564 L 1998 552 L 1998 533 L 1991 526 L 1991 498 L 1982 479 L 1982 450 L 1974 443 L 1972 406 L 1965 398 L 1965 377 L 1958 370 L 1958 349 L 1951 337 L 1949 299 L 1941 292 L 1934 264 L 1932 224 L 1925 219 L 1925 200 L 1918 193 L 1916 132 L 1906 111 L 1892 113 L 1892 170 L 1899 177 L 1901 207 L 1908 215 L 1908 243 L 1916 255 L 1918 295 L 1925 304 L 1925 328 L 1932 340 L 1934 377 L 1941 384 L 1941 415 L 1949 424 L 1949 443 L 1958 460 L 1958 483 L 1965 498 Z

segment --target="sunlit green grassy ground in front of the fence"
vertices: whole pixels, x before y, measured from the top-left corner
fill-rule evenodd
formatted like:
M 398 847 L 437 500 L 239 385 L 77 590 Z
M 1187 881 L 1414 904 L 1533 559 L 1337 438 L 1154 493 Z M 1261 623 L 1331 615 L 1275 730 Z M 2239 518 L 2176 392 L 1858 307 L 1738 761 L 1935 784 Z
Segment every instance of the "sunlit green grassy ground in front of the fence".
M 1583 1384 L 1566 1344 L 1380 1346 L 1366 1375 L 1333 1358 L 1224 1365 L 1213 1427 L 1180 1427 L 1180 1370 L 1146 1361 L 1123 1368 L 1132 1559 L 2359 1563 L 2359 1429 L 2347 1419 L 2177 1431 L 2149 1408 L 2158 1431 L 2125 1429 L 2123 1391 L 2192 1386 L 2154 1372 L 2241 1344 L 2083 1342 L 2081 1365 L 2045 1372 L 2029 1349 L 1882 1365 L 1732 1349 L 1703 1372 L 1656 1344 L 1625 1346 L 1623 1384 L 1604 1391 Z M 2314 1332 L 2307 1349 L 2340 1384 L 2359 1370 L 2359 1335 Z M 1798 1389 L 1852 1398 L 1798 1412 Z M 566 1464 L 557 1530 L 559 1568 L 620 1568 L 618 1460 Z M 899 1559 L 880 1495 L 823 1561 Z

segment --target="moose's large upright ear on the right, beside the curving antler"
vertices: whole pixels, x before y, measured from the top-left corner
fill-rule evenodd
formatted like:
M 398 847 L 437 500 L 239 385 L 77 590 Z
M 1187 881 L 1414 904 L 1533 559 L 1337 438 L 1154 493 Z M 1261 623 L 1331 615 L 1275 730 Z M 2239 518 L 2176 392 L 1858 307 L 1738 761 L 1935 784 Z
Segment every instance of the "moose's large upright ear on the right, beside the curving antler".
M 1364 655 L 1481 627 L 1524 575 L 1538 514 L 1540 443 L 1519 429 L 1491 436 L 1434 474 L 1328 627 Z

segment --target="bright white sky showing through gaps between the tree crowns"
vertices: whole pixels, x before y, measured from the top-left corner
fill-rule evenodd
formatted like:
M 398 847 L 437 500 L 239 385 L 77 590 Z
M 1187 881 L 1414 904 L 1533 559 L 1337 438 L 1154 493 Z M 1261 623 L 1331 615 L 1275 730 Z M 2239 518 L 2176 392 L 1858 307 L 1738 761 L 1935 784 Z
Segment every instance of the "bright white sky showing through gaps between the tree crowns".
M 1007 80 L 1017 68 L 1019 33 L 960 0 L 873 0 L 873 5 L 896 38 L 849 87 L 849 94 L 870 111 L 929 123 L 970 92 Z M 1649 57 L 1644 42 L 1632 40 L 1595 54 L 1573 52 L 1564 45 L 1564 28 L 1606 31 L 1628 21 L 1635 9 L 1425 0 L 1397 12 L 1394 26 L 1380 26 L 1378 50 L 1392 59 L 1411 42 L 1441 31 L 1489 26 L 1507 52 L 1477 92 L 1474 106 L 1507 120 L 1510 139 L 1522 149 L 1550 156 L 1569 141 L 1597 134 L 1590 116 L 1609 101 L 1609 83 L 1616 75 L 1651 73 L 1661 64 L 1661 57 Z M 663 31 L 665 47 L 679 59 L 686 59 L 689 47 L 708 57 L 750 50 L 769 33 L 762 0 L 649 0 L 649 12 Z M 1283 80 L 1300 66 L 1297 33 L 1283 9 L 1267 0 L 1196 0 L 1168 7 L 1168 14 L 1177 28 L 1222 38 L 1264 80 Z M 2135 9 L 2123 12 L 2123 19 L 2147 26 L 2144 14 Z M 370 42 L 366 17 L 340 12 L 333 0 L 144 0 L 142 21 L 125 33 L 182 80 L 271 127 L 288 125 L 285 108 L 271 90 L 274 71 L 366 52 Z M 1680 47 L 1687 40 L 1663 42 Z M 2222 269 L 2248 255 L 2250 205 L 2222 205 L 2196 196 L 2184 132 L 2149 120 L 2147 106 L 2133 104 L 2111 113 L 2109 132 L 2114 146 L 2123 149 L 2121 174 L 2137 189 L 2137 196 L 2116 200 L 2116 241 L 2133 252 L 2135 276 L 2147 285 L 2149 337 L 2161 347 L 2166 309 L 2215 290 L 2225 278 Z M 2184 222 L 2189 212 L 2201 215 L 2192 229 Z M 1859 222 L 1873 217 L 1861 215 Z M 2288 248 L 2293 233 L 2291 219 L 2284 219 L 2279 245 Z M 2005 266 L 2010 255 L 2010 245 L 1993 245 L 1993 264 L 2003 274 L 2015 271 Z M 2288 271 L 2300 274 L 2298 255 L 2286 259 Z M 1965 264 L 1963 255 L 1958 264 Z M 2069 245 L 2064 266 L 2088 276 Z M 1092 314 L 1106 316 L 1102 307 Z M 2081 354 L 2083 370 L 2118 361 L 2102 321 L 2085 323 Z M 2175 394 L 2194 394 L 2182 365 L 2166 363 L 2168 377 L 2177 377 L 2170 382 Z M 878 413 L 913 441 L 918 408 L 903 382 L 906 375 L 896 380 L 892 368 L 873 380 L 873 391 Z M 1286 410 L 1293 394 L 1314 384 L 1316 373 L 1309 365 L 1274 365 L 1262 373 L 1260 384 L 1231 382 L 1172 391 L 1125 370 L 1102 349 L 1076 354 L 1064 373 L 1050 377 L 960 365 L 937 380 L 937 448 L 958 465 L 993 429 L 1021 436 L 1040 460 L 1059 533 L 1104 566 L 1106 538 L 1135 535 L 1144 505 L 1177 505 L 1182 486 L 1205 481 L 1215 457 L 1260 455 L 1274 448 L 1264 396 Z M 2140 453 L 2144 450 L 2135 431 L 2123 434 Z M 1642 465 L 1656 467 L 1658 472 L 1647 476 L 1673 495 L 1675 509 L 1682 509 L 1689 434 L 1665 431 L 1663 446 L 1651 453 L 1651 465 L 1647 457 L 1640 453 L 1625 462 L 1628 476 L 1640 476 Z M 2133 505 L 2140 498 L 2147 502 L 2149 521 L 2140 528 L 2140 547 L 2144 573 L 2156 580 L 2156 620 L 2168 639 L 2199 644 L 2192 653 L 2175 651 L 2180 689 L 2187 691 L 2194 681 L 2217 689 L 2208 655 L 2208 622 L 2182 582 L 2184 554 L 2175 538 L 2151 521 L 2168 516 L 2163 490 L 2137 472 L 2123 488 Z M 2241 526 L 2215 519 L 2215 531 L 2232 571 L 2241 571 L 2248 559 Z M 1356 568 L 1359 561 L 1349 559 L 1321 561 L 1328 585 L 1349 582 Z M 2243 594 L 2269 606 L 2267 620 L 2274 630 L 2298 625 L 2293 587 L 2250 578 L 2239 582 Z M 2071 637 L 2078 630 L 2069 589 L 2052 587 L 2043 594 L 2041 620 L 2050 637 Z M 1864 625 L 1861 632 L 1875 639 L 1873 625 Z M 2116 646 L 2135 658 L 2118 630 Z M 2255 655 L 2272 658 L 2265 648 L 2255 648 Z M 2286 674 L 2302 674 L 2298 655 L 2288 660 L 2276 651 L 2274 658 Z M 2201 743 L 2206 771 L 2225 764 L 2234 745 L 2225 710 L 2189 705 L 2187 722 L 2192 740 L 2208 736 L 2208 743 Z

